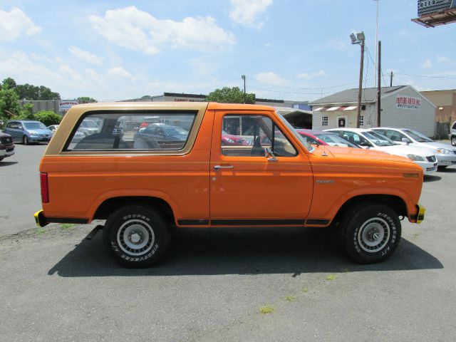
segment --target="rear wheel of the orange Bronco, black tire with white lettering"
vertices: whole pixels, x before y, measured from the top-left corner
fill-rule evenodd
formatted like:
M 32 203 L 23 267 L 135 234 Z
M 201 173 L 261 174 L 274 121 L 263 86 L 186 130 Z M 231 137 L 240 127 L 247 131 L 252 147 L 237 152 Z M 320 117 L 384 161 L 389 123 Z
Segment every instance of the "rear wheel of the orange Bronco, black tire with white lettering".
M 103 229 L 105 249 L 123 266 L 152 266 L 170 244 L 170 229 L 155 209 L 142 204 L 122 207 L 106 220 Z

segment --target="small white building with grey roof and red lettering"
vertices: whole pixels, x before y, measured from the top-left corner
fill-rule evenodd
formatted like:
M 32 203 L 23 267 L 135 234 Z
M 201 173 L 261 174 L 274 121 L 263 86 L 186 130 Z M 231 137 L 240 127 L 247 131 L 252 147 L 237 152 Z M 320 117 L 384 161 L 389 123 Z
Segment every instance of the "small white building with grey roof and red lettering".
M 377 127 L 377 88 L 363 89 L 361 100 L 361 128 Z M 356 128 L 358 114 L 358 89 L 314 100 L 312 105 L 312 128 Z M 393 128 L 412 128 L 425 135 L 434 135 L 435 105 L 412 86 L 381 88 L 380 125 Z

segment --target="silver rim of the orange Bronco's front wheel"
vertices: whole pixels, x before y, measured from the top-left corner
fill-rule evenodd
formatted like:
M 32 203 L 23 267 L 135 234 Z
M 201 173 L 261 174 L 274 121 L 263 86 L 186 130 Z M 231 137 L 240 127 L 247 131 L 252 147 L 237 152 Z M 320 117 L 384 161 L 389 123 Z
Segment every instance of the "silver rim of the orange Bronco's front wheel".
M 368 219 L 358 231 L 358 244 L 369 253 L 383 249 L 390 240 L 390 225 L 380 217 Z

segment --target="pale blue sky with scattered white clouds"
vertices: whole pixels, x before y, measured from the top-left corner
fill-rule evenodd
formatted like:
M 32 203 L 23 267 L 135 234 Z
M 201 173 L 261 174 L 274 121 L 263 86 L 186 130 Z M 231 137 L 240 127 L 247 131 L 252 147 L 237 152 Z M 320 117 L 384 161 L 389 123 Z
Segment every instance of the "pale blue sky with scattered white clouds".
M 374 86 L 376 11 L 382 86 L 456 88 L 456 23 L 425 28 L 416 0 L 0 0 L 0 81 L 99 101 L 207 94 L 316 100 Z

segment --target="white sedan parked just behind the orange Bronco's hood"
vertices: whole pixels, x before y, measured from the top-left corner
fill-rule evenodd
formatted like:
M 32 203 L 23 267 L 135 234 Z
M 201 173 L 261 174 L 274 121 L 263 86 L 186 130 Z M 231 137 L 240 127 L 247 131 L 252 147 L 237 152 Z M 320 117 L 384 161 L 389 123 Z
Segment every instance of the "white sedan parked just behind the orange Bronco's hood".
M 413 160 L 423 168 L 425 174 L 437 171 L 437 157 L 432 150 L 397 145 L 384 135 L 363 128 L 333 128 L 326 131 L 341 135 L 342 138 L 346 138 L 363 148 L 388 152 L 390 155 L 400 155 Z

